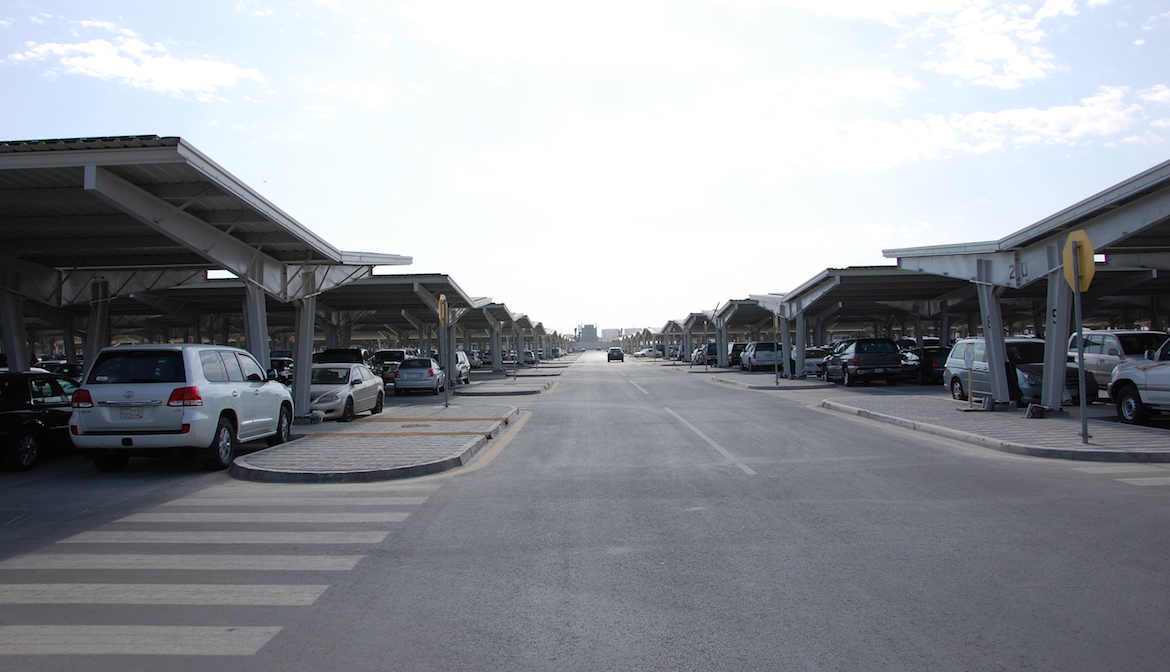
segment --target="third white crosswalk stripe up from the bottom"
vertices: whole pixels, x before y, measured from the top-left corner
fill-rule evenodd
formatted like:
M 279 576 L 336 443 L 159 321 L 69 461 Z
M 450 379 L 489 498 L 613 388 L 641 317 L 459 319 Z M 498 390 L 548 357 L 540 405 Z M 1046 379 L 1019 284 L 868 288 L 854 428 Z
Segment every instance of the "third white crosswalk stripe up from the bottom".
M 0 561 L 2 569 L 173 569 L 349 571 L 364 555 L 117 555 L 34 553 Z

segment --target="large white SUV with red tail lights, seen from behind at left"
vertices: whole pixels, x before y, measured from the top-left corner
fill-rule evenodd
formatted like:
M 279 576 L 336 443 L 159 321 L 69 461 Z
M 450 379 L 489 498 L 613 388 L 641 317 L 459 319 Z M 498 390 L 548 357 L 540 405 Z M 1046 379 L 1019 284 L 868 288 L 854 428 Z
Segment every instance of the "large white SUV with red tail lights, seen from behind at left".
M 223 469 L 240 441 L 289 439 L 292 397 L 250 352 L 172 343 L 103 349 L 73 396 L 69 432 L 102 471 L 132 455 L 192 454 Z

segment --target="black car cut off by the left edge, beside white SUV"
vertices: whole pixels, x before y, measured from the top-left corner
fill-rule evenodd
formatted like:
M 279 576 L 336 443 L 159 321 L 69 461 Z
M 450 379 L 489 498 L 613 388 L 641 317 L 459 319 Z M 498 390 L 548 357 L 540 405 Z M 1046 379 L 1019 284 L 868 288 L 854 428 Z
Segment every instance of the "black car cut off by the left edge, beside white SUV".
M 0 373 L 0 464 L 33 468 L 46 446 L 69 447 L 69 416 L 77 382 L 43 371 Z

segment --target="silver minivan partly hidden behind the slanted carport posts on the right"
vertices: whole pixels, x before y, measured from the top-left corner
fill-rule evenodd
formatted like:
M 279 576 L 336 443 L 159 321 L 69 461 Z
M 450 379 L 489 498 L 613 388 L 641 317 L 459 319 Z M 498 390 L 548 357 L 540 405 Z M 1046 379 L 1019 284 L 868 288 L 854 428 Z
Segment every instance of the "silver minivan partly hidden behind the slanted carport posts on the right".
M 1040 402 L 1044 391 L 1044 341 L 1039 338 L 1005 338 L 1007 363 L 1016 371 L 1009 378 L 1011 399 L 1028 404 Z M 966 371 L 966 354 L 970 350 L 971 372 Z M 987 347 L 980 338 L 961 338 L 947 355 L 943 380 L 955 399 L 966 399 L 968 395 L 987 397 L 991 395 L 991 370 L 987 365 Z M 970 380 L 970 383 L 969 383 Z M 1065 366 L 1065 389 L 1069 398 L 1080 398 L 1080 376 L 1076 364 Z M 1085 393 L 1088 402 L 1097 398 L 1099 388 L 1092 376 L 1085 377 Z

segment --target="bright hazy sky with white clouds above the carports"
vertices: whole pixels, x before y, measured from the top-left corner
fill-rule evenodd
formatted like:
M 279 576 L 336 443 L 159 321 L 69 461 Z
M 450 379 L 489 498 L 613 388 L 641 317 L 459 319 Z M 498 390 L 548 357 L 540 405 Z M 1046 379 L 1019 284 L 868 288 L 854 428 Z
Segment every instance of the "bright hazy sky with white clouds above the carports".
M 1004 238 L 1170 150 L 1164 0 L 0 0 L 0 140 L 179 136 L 573 334 Z

